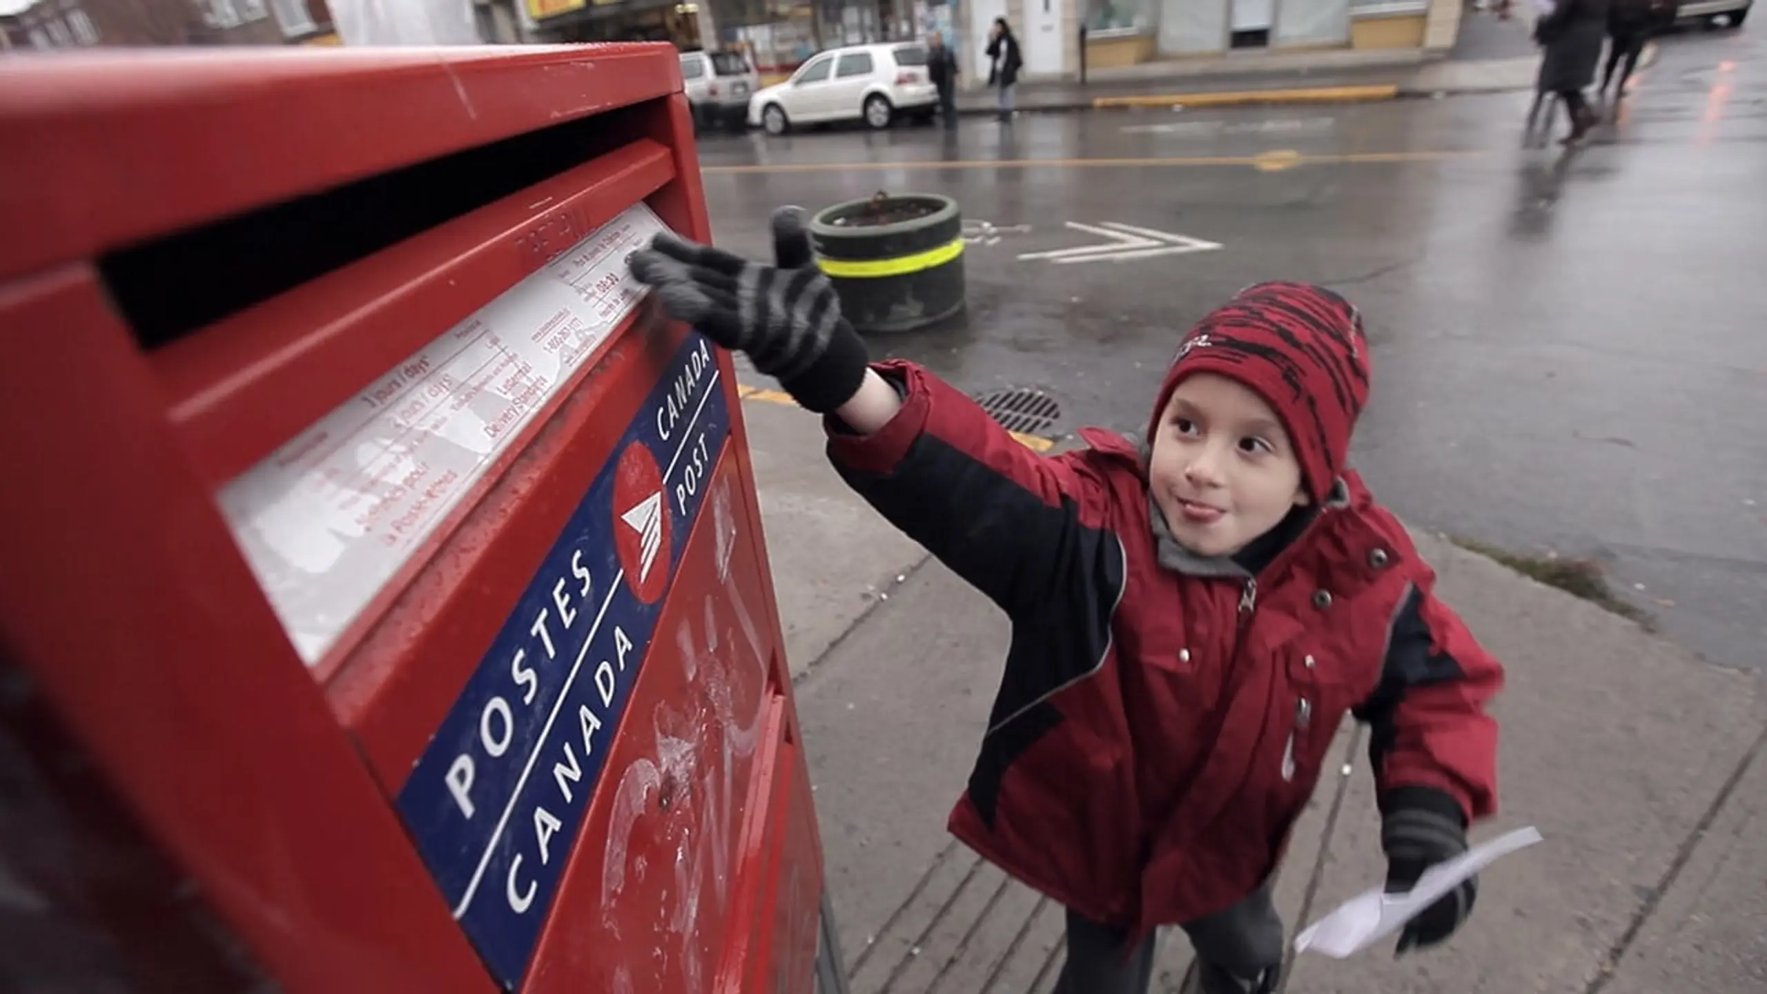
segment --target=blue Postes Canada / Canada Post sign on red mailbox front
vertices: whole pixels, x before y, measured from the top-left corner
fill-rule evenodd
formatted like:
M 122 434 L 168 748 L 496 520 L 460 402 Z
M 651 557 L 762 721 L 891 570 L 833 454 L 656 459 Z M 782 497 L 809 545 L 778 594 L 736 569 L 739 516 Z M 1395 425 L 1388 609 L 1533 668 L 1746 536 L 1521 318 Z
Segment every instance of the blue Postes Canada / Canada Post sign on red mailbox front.
M 558 893 L 728 435 L 710 345 L 691 334 L 399 791 L 417 851 L 509 990 Z

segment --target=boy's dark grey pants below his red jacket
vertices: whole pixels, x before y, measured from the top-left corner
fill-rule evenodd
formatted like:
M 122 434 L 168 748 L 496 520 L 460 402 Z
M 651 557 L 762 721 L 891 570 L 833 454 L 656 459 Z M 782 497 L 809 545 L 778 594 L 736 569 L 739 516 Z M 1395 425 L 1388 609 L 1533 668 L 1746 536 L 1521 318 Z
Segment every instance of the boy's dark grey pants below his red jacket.
M 1184 923 L 1202 969 L 1202 994 L 1240 994 L 1246 982 L 1283 962 L 1283 920 L 1265 884 L 1232 907 Z M 1129 936 L 1067 913 L 1067 960 L 1055 994 L 1147 994 L 1154 976 L 1154 936 L 1129 948 Z M 1189 989 L 1184 994 L 1193 994 Z

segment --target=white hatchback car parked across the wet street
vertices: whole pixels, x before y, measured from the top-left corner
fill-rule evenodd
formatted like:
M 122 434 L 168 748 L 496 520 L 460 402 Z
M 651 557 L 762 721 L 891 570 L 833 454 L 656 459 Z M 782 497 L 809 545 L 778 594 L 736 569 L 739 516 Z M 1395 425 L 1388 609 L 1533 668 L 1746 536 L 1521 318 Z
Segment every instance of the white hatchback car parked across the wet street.
M 834 120 L 889 127 L 898 115 L 929 120 L 937 111 L 938 88 L 926 73 L 926 46 L 899 41 L 822 51 L 785 83 L 749 99 L 749 124 L 769 134 Z

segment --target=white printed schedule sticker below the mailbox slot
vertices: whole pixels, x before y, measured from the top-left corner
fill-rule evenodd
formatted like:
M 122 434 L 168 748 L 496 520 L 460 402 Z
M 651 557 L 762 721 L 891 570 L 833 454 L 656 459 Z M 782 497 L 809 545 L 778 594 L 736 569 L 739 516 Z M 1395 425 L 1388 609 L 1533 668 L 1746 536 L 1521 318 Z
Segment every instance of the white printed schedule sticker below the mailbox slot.
M 422 548 L 636 308 L 626 209 L 221 488 L 221 511 L 307 665 Z

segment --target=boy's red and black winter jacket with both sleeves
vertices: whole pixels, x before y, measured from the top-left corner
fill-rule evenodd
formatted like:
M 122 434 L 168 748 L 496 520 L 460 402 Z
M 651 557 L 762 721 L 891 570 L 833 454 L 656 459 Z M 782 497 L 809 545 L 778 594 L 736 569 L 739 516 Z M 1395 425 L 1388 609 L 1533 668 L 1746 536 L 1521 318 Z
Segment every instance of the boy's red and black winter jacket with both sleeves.
M 876 370 L 901 410 L 864 437 L 830 419 L 829 458 L 1012 623 L 965 844 L 1094 921 L 1200 918 L 1276 868 L 1350 711 L 1382 805 L 1495 810 L 1502 667 L 1354 472 L 1256 577 L 1180 575 L 1127 439 L 1035 455 L 921 366 Z

